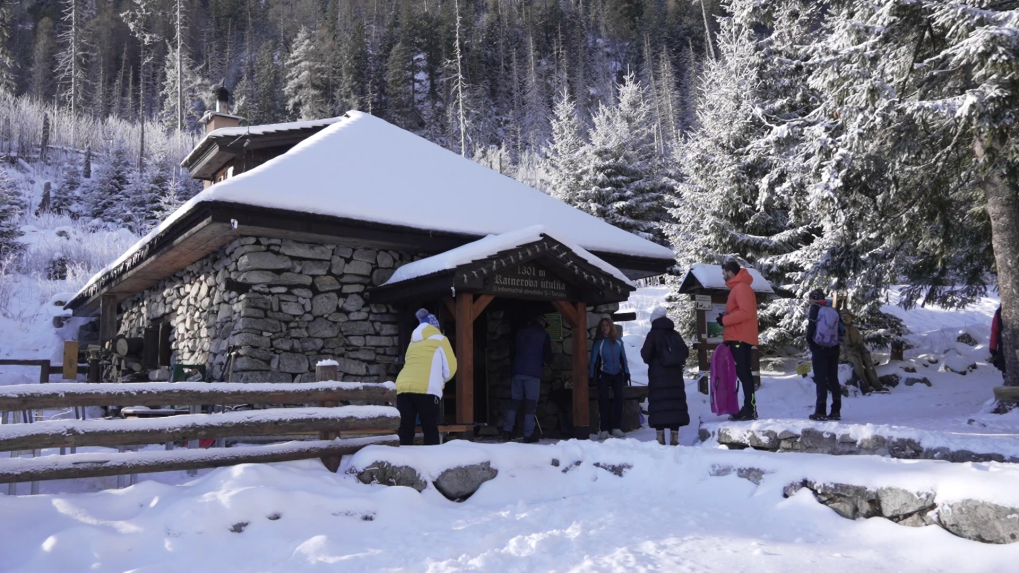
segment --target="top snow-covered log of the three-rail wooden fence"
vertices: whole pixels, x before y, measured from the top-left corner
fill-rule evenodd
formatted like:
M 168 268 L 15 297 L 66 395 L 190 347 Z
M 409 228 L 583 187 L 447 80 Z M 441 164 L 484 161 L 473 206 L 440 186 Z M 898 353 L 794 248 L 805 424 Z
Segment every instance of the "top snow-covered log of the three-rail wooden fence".
M 99 365 L 97 363 L 96 369 Z M 90 362 L 90 374 L 92 364 Z M 361 382 L 74 382 L 0 386 L 0 412 L 46 410 L 73 406 L 136 406 L 138 404 L 309 404 L 312 402 L 367 401 L 394 403 L 391 383 Z

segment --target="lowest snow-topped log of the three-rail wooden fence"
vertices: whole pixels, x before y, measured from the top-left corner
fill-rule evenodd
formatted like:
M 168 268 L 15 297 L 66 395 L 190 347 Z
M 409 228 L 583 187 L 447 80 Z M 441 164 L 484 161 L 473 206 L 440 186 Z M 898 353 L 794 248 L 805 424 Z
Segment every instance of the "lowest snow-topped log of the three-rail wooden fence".
M 368 446 L 396 446 L 395 435 L 334 441 L 290 441 L 253 448 L 215 448 L 128 454 L 72 454 L 41 458 L 0 460 L 0 483 L 102 477 L 128 473 L 155 473 L 218 468 L 237 464 L 269 464 L 310 460 L 323 456 L 348 456 Z

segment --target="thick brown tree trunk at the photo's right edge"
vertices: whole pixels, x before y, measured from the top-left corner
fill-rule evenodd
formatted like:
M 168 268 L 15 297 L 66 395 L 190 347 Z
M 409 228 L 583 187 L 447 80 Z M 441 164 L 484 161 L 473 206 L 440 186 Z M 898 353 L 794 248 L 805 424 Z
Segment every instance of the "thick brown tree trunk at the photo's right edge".
M 980 142 L 978 157 L 983 156 Z M 980 181 L 990 216 L 990 243 L 998 267 L 998 293 L 1002 298 L 1002 349 L 1005 385 L 1019 386 L 1019 193 L 1010 177 L 996 169 Z

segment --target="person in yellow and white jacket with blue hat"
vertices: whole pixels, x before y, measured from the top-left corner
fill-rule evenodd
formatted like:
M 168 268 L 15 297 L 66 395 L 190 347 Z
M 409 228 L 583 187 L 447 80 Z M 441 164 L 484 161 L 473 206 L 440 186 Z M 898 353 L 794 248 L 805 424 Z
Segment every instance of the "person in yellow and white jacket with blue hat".
M 449 340 L 439 331 L 439 321 L 426 309 L 415 316 L 420 324 L 411 334 L 404 369 L 396 376 L 399 410 L 399 445 L 414 445 L 414 427 L 421 418 L 425 446 L 438 446 L 442 386 L 457 373 L 457 357 Z

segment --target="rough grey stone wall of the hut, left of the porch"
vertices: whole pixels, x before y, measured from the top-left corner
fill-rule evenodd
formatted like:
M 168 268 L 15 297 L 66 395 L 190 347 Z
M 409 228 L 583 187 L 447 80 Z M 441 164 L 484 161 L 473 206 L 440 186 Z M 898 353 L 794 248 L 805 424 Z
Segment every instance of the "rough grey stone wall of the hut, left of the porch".
M 173 326 L 173 362 L 205 364 L 211 380 L 315 379 L 319 360 L 344 380 L 398 372 L 396 309 L 365 291 L 413 260 L 395 251 L 245 237 L 121 305 L 120 332 Z

